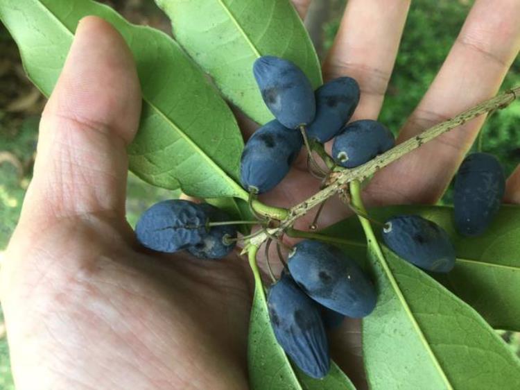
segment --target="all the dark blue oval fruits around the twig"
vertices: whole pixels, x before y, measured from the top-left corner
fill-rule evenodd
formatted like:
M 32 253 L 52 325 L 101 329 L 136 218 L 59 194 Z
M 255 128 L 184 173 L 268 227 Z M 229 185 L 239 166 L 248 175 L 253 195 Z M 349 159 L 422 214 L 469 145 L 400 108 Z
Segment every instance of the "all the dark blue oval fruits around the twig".
M 312 153 L 309 142 L 322 146 L 333 139 L 334 164 L 326 176 L 365 164 L 394 146 L 390 130 L 377 121 L 348 124 L 360 97 L 353 78 L 336 78 L 313 91 L 303 71 L 288 60 L 264 56 L 253 70 L 275 119 L 261 126 L 243 149 L 241 182 L 251 197 L 276 187 L 304 144 Z M 499 210 L 504 189 L 505 175 L 494 156 L 468 155 L 455 179 L 458 232 L 482 234 Z M 258 223 L 265 231 L 268 221 Z M 432 272 L 447 273 L 455 266 L 449 235 L 433 221 L 398 215 L 381 225 L 384 243 L 402 259 Z M 216 207 L 177 200 L 150 207 L 139 219 L 136 234 L 142 245 L 155 251 L 187 250 L 196 257 L 217 259 L 233 250 L 237 230 Z M 326 330 L 340 325 L 345 316 L 367 316 L 376 300 L 376 287 L 351 257 L 335 246 L 307 239 L 293 246 L 286 268 L 270 287 L 268 312 L 281 348 L 304 373 L 323 378 L 330 367 Z

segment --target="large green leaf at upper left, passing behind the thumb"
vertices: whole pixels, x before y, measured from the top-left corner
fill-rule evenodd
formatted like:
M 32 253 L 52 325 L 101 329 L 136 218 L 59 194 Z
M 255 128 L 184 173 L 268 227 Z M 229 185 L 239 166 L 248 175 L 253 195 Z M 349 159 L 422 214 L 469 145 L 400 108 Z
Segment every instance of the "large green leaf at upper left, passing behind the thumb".
M 170 37 L 134 26 L 90 0 L 2 0 L 0 19 L 17 41 L 33 83 L 49 96 L 78 21 L 97 15 L 130 46 L 143 92 L 130 169 L 148 183 L 200 197 L 247 199 L 238 184 L 243 141 L 231 110 Z

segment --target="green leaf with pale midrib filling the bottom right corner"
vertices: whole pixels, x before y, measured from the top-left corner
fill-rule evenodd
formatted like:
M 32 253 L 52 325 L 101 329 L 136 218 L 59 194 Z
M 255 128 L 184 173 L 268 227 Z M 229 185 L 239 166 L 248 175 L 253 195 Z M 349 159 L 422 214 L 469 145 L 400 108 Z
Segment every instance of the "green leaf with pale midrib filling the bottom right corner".
M 477 312 L 392 252 L 369 255 L 380 291 L 363 319 L 371 389 L 520 388 L 520 360 Z

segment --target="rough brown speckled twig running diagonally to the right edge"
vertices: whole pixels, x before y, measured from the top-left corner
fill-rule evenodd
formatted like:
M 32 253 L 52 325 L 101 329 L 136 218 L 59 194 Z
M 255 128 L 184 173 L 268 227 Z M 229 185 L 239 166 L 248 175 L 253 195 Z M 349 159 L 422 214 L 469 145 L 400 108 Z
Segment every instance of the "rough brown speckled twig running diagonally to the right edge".
M 327 198 L 330 198 L 331 196 L 340 192 L 340 190 L 345 187 L 345 185 L 352 183 L 354 180 L 358 180 L 360 182 L 365 180 L 376 171 L 379 171 L 379 169 L 403 157 L 406 155 L 406 153 L 410 153 L 423 144 L 426 144 L 426 142 L 431 141 L 439 135 L 447 133 L 449 130 L 453 130 L 453 128 L 467 123 L 467 121 L 470 121 L 471 119 L 479 117 L 480 115 L 483 115 L 492 110 L 498 110 L 507 107 L 517 98 L 517 96 L 520 96 L 520 86 L 515 87 L 512 90 L 508 90 L 499 96 L 495 96 L 492 99 L 484 101 L 483 103 L 475 105 L 474 107 L 469 108 L 469 110 L 460 113 L 452 119 L 424 130 L 423 133 L 406 140 L 389 151 L 386 151 L 385 153 L 377 156 L 373 160 L 370 160 L 366 164 L 353 169 L 335 172 L 335 176 L 330 185 L 324 187 L 324 189 L 320 190 L 310 198 L 288 210 L 288 216 L 281 221 L 278 228 L 269 229 L 269 234 L 280 235 L 281 232 L 287 228 L 291 228 L 297 219 L 304 216 L 313 207 L 319 205 Z M 251 239 L 250 243 L 254 246 L 259 246 L 263 241 L 266 241 L 266 239 L 268 239 L 268 235 L 263 233 Z

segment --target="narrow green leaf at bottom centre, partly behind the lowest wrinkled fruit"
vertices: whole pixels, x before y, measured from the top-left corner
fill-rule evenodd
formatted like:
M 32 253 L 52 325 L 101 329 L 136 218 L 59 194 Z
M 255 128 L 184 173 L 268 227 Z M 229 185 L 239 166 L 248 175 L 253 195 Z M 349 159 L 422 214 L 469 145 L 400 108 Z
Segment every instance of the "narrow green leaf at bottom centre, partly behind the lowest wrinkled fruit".
M 329 374 L 315 380 L 293 368 L 272 332 L 266 296 L 260 278 L 255 275 L 256 288 L 251 310 L 248 340 L 250 387 L 253 390 L 355 390 L 347 375 L 331 362 Z

